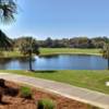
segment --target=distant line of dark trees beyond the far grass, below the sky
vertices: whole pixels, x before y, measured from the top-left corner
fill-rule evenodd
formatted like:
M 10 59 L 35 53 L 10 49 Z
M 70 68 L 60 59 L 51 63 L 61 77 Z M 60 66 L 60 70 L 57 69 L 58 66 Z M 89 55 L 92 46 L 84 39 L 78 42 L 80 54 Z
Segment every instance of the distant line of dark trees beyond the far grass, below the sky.
M 23 41 L 26 41 L 26 37 L 14 39 L 14 47 L 19 47 Z M 108 37 L 74 37 L 52 39 L 48 37 L 45 40 L 36 40 L 39 47 L 47 48 L 102 48 L 105 43 L 109 43 Z

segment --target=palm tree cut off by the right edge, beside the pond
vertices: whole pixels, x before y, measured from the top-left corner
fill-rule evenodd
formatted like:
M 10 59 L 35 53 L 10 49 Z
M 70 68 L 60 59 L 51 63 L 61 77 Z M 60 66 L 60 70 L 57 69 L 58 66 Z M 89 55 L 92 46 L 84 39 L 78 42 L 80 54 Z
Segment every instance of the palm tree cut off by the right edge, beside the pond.
M 101 52 L 102 57 L 108 60 L 108 70 L 109 70 L 109 43 L 104 45 Z

